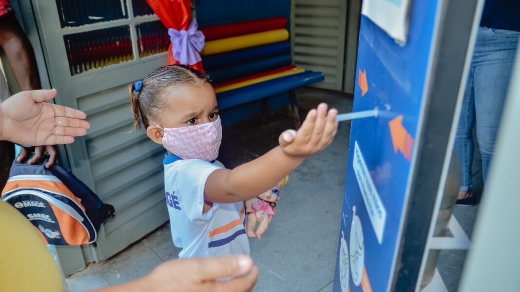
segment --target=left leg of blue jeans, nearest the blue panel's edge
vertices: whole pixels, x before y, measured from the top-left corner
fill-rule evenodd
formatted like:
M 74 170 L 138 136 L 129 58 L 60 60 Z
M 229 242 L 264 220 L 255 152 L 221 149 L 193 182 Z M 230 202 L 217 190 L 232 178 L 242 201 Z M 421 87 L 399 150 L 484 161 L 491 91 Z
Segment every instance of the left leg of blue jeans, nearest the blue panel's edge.
M 462 100 L 462 108 L 460 112 L 459 124 L 457 126 L 457 134 L 453 150 L 459 157 L 461 166 L 461 191 L 473 189 L 473 179 L 471 175 L 471 167 L 473 164 L 473 152 L 475 145 L 473 144 L 472 129 L 475 123 L 475 99 L 473 95 L 473 68 L 467 77 L 464 99 Z

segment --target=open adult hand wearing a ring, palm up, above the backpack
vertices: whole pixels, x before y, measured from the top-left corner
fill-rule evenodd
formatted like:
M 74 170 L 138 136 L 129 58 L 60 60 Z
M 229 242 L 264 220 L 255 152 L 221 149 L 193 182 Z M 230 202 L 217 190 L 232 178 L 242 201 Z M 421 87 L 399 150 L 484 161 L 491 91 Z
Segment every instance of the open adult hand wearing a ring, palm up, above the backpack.
M 56 89 L 22 91 L 0 104 L 0 140 L 32 146 L 68 144 L 90 124 L 82 111 L 45 103 Z

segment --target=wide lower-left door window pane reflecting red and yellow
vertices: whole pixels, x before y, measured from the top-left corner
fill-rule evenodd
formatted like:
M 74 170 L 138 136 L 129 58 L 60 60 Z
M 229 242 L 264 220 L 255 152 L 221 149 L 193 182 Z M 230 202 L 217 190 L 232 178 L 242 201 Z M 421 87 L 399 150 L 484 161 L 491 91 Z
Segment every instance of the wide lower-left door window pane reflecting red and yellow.
M 71 75 L 134 59 L 129 26 L 63 36 Z

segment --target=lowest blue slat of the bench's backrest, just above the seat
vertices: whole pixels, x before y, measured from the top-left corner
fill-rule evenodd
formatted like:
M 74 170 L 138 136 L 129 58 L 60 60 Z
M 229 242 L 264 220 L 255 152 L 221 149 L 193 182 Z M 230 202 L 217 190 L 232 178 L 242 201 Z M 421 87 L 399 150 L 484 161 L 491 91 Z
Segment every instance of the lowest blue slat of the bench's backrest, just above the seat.
M 230 81 L 240 77 L 277 69 L 291 64 L 291 55 L 284 54 L 256 60 L 233 67 L 206 72 L 213 84 Z

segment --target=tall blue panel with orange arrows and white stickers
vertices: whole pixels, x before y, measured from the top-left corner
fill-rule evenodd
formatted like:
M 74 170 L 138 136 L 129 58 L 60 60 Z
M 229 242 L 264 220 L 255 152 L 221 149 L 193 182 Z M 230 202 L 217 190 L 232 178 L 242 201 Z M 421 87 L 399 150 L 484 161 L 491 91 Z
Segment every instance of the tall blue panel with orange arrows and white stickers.
M 334 291 L 348 285 L 361 292 L 363 281 L 373 291 L 387 291 L 392 281 L 438 2 L 411 3 L 404 46 L 361 17 L 353 110 L 378 107 L 380 115 L 352 123 Z M 365 76 L 368 91 L 362 95 Z M 342 256 L 346 247 L 348 257 Z

